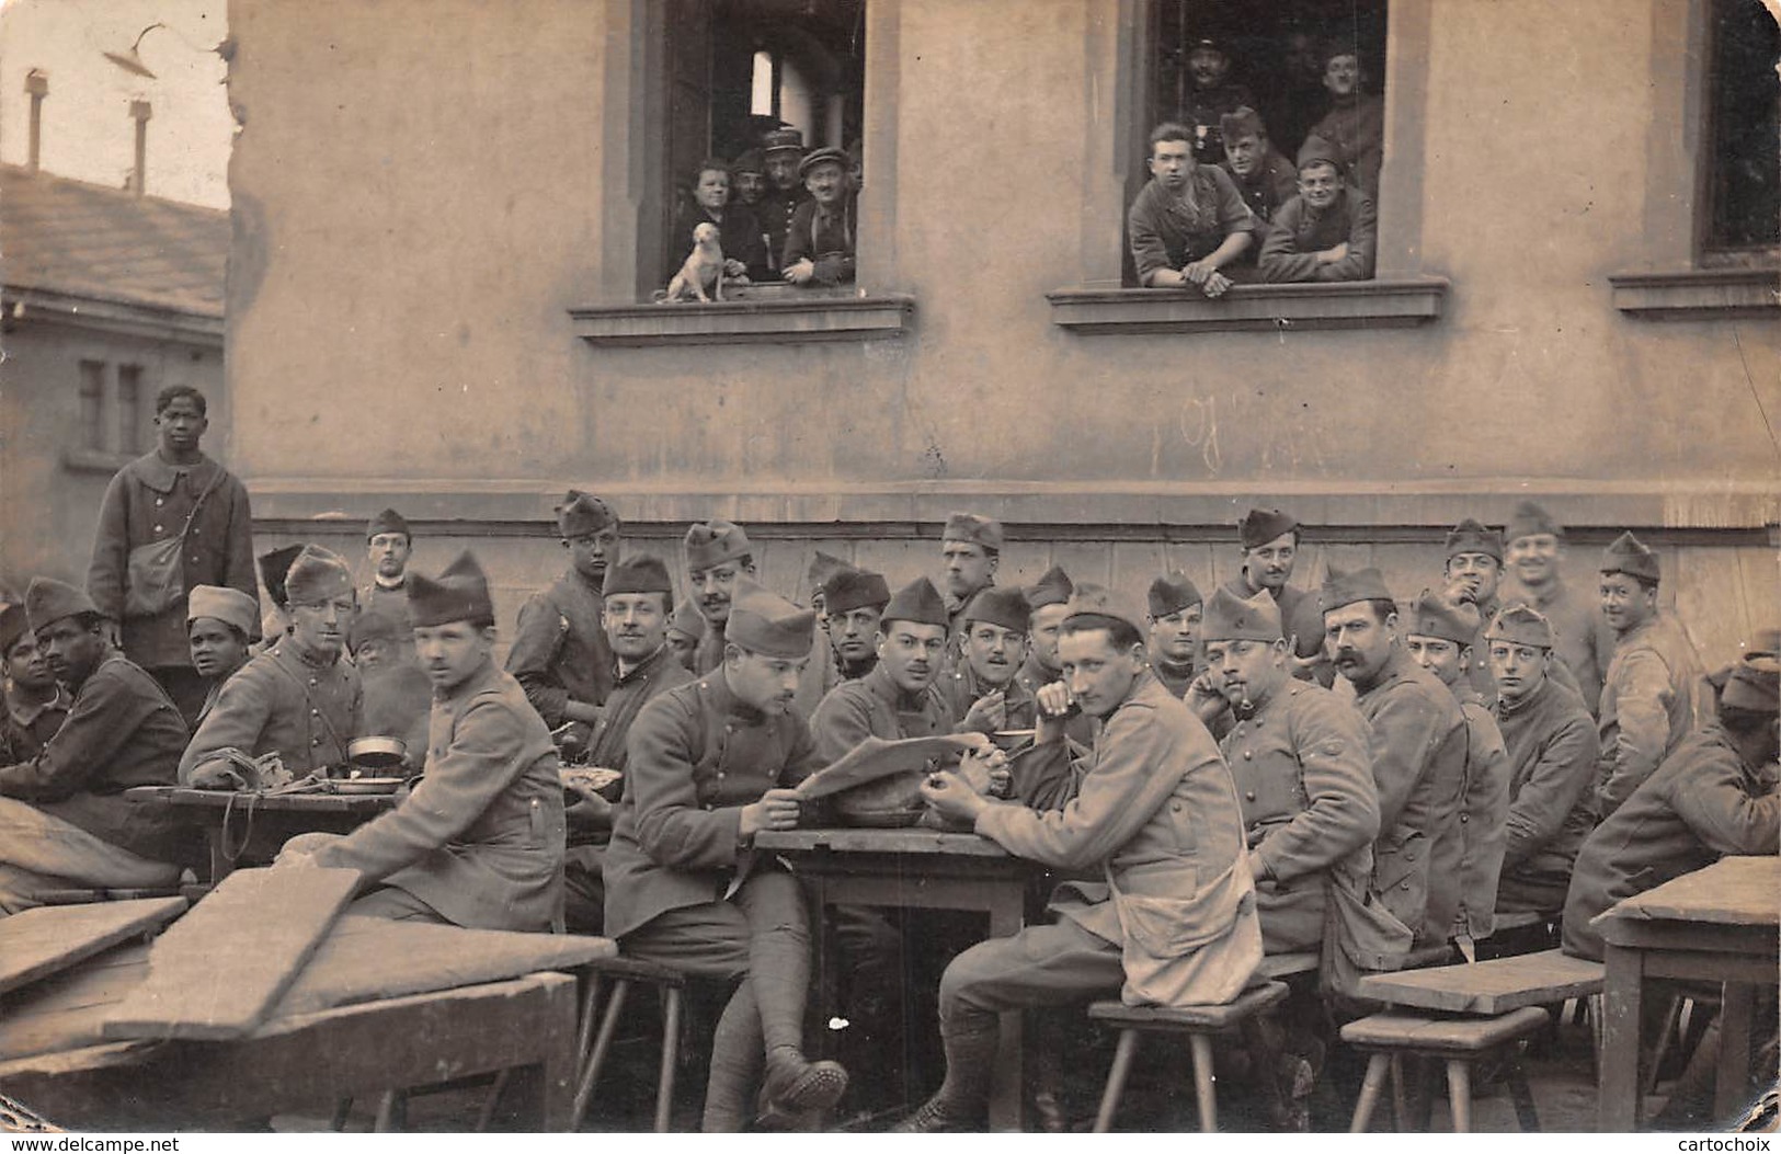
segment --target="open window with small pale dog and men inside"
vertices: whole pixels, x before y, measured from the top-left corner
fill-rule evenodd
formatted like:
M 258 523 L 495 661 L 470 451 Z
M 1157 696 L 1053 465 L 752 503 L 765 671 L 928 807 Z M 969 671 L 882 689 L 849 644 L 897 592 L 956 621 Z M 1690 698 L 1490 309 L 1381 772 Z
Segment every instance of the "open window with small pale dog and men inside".
M 643 294 L 702 301 L 851 285 L 866 0 L 663 9 L 663 64 L 648 80 L 661 102 L 645 112 L 661 187 L 638 237 Z M 703 224 L 712 228 L 695 239 Z

